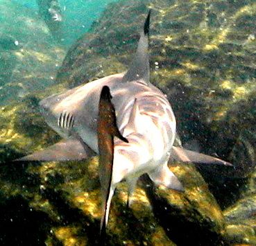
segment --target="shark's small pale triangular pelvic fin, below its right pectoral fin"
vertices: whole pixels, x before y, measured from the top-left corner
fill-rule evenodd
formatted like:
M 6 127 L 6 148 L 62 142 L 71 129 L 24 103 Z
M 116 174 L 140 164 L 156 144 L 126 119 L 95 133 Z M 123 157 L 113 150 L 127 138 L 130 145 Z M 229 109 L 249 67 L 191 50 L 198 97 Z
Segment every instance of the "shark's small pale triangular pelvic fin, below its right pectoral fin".
M 155 184 L 162 184 L 167 188 L 172 188 L 176 191 L 184 191 L 184 188 L 178 178 L 171 172 L 167 163 L 163 166 L 159 166 L 151 173 L 148 173 L 149 177 Z

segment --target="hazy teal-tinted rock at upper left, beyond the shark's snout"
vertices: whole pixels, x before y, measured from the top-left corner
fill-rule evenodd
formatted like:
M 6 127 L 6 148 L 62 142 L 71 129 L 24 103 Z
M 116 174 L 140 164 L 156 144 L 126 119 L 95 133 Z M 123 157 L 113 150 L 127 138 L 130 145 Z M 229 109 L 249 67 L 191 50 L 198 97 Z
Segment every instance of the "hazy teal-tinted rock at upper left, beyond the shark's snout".
M 65 49 L 33 9 L 3 0 L 0 19 L 0 105 L 6 105 L 54 85 Z

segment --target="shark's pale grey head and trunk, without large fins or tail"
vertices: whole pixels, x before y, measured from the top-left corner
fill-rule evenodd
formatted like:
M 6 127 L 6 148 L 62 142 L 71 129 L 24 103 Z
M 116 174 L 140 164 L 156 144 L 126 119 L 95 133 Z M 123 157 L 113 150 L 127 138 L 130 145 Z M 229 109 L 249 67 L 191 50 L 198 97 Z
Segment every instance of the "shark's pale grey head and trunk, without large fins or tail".
M 123 74 L 108 76 L 71 89 L 65 94 L 46 98 L 40 105 L 46 122 L 60 136 L 79 136 L 99 154 L 96 131 L 99 112 L 95 105 L 99 103 L 101 88 L 108 85 L 117 114 L 117 126 L 123 137 L 129 140 L 130 136 L 129 144 L 124 146 L 116 140 L 115 152 L 122 152 L 122 158 L 128 158 L 136 164 L 138 170 L 132 165 L 132 173 L 139 172 L 142 175 L 145 168 L 149 171 L 163 160 L 169 160 L 176 134 L 176 120 L 171 105 L 159 89 L 139 81 L 123 83 L 122 78 Z M 73 127 L 66 127 L 65 122 L 64 125 L 60 123 L 60 115 L 65 113 L 74 117 Z

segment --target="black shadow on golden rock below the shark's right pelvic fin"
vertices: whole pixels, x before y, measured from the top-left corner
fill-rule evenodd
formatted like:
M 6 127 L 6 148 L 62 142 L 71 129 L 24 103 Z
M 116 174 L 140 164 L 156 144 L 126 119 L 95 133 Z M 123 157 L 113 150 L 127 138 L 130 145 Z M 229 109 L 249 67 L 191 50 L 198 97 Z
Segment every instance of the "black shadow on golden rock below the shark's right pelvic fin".
M 211 218 L 211 214 L 205 214 L 202 211 L 207 202 L 198 204 L 197 200 L 190 199 L 184 193 L 180 198 L 182 205 L 173 204 L 169 200 L 169 195 L 162 195 L 159 188 L 155 187 L 146 175 L 143 177 L 143 182 L 146 184 L 146 193 L 151 200 L 155 217 L 174 243 L 177 245 L 224 245 L 222 219 L 216 220 L 214 216 Z M 211 213 L 214 213 L 218 208 L 214 207 L 214 204 L 212 206 Z

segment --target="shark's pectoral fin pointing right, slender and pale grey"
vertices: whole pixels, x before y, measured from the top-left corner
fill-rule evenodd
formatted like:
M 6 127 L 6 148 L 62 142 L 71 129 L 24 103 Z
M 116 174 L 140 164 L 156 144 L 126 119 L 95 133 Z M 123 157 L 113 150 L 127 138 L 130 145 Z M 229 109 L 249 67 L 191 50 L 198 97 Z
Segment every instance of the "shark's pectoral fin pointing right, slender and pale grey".
M 185 148 L 173 146 L 171 157 L 169 162 L 182 161 L 182 162 L 192 162 L 195 164 L 219 164 L 225 166 L 232 166 L 228 161 L 223 161 L 216 157 L 211 157 L 210 155 L 204 155 L 192 150 L 186 150 Z

